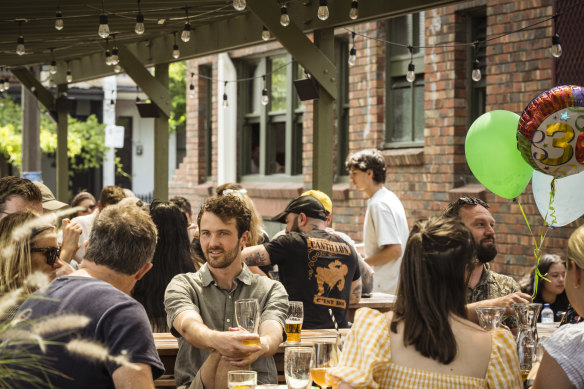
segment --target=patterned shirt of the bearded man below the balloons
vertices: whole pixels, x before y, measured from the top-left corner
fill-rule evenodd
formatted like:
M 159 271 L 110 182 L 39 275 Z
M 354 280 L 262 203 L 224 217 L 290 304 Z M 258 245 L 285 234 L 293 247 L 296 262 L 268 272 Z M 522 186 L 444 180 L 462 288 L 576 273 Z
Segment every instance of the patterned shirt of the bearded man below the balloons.
M 489 270 L 487 264 L 483 265 L 483 273 L 477 286 L 473 289 L 470 286 L 466 290 L 466 300 L 469 303 L 477 301 L 491 300 L 511 293 L 521 292 L 521 287 L 513 278 Z M 517 318 L 506 316 L 503 324 L 509 328 L 517 328 Z

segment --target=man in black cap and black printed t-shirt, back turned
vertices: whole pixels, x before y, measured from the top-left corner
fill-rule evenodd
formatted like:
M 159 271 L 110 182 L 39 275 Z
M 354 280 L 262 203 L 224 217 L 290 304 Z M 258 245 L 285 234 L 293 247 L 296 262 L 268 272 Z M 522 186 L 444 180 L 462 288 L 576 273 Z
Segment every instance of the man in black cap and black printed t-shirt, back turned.
M 349 303 L 361 296 L 357 253 L 343 239 L 325 231 L 327 214 L 314 196 L 292 200 L 273 220 L 286 223 L 286 235 L 248 247 L 248 265 L 277 264 L 290 301 L 304 305 L 303 328 L 333 328 L 332 309 L 341 328 L 349 326 Z

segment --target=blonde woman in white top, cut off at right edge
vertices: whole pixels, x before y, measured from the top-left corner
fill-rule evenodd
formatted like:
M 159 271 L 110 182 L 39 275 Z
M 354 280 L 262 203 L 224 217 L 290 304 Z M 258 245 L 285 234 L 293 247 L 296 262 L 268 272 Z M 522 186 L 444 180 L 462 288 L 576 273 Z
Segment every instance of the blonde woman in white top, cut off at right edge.
M 566 279 L 570 305 L 584 316 L 584 226 L 568 240 Z M 584 388 L 584 323 L 558 328 L 542 342 L 544 353 L 533 389 Z

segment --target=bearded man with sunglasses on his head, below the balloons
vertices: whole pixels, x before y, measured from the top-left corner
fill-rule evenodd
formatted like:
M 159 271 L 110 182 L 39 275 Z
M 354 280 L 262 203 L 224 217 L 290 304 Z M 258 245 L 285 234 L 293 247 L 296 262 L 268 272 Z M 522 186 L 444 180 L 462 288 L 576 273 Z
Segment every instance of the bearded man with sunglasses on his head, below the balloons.
M 489 205 L 474 197 L 461 197 L 450 203 L 444 216 L 462 222 L 473 234 L 477 246 L 477 261 L 470 269 L 467 289 L 467 316 L 478 323 L 475 307 L 498 306 L 507 309 L 504 324 L 517 327 L 512 304 L 529 303 L 531 297 L 521 292 L 519 283 L 509 276 L 495 273 L 488 263 L 497 256 L 495 245 L 495 218 L 488 210 Z

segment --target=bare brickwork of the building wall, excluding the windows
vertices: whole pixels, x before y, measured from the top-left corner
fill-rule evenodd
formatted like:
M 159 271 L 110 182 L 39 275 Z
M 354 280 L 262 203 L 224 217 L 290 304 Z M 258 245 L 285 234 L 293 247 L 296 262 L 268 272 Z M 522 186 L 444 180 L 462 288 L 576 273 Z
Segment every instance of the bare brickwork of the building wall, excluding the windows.
M 552 15 L 552 0 L 474 0 L 426 11 L 426 44 L 466 42 L 466 10 L 486 7 L 487 37 L 491 38 Z M 383 21 L 358 24 L 354 29 L 371 37 L 385 39 Z M 337 34 L 347 34 L 345 30 Z M 540 92 L 551 88 L 553 61 L 549 53 L 551 22 L 533 29 L 492 40 L 486 49 L 486 110 L 504 109 L 521 114 Z M 279 49 L 269 43 L 230 52 L 232 58 L 267 53 Z M 385 44 L 357 38 L 357 63 L 350 68 L 349 151 L 381 147 L 385 136 Z M 202 64 L 215 64 L 215 57 L 200 58 L 189 64 L 189 74 Z M 213 66 L 216 74 L 216 66 Z M 448 45 L 425 51 L 425 142 L 423 148 L 384 150 L 388 164 L 387 186 L 402 200 L 410 226 L 417 219 L 437 215 L 461 195 L 481 197 L 491 204 L 497 220 L 500 254 L 494 269 L 520 278 L 534 264 L 534 243 L 518 203 L 500 198 L 477 184 L 465 184 L 467 171 L 464 141 L 467 132 L 467 72 L 470 64 L 464 46 Z M 199 79 L 198 82 L 201 82 Z M 216 124 L 217 92 L 214 86 L 213 115 Z M 201 91 L 202 89 L 198 88 Z M 201 92 L 199 92 L 201 93 Z M 195 207 L 211 193 L 214 182 L 206 182 L 201 164 L 201 132 L 197 130 L 198 104 L 189 100 L 187 107 L 187 157 L 171 183 L 171 194 L 182 194 Z M 305 105 L 303 116 L 302 184 L 246 183 L 260 213 L 276 214 L 288 200 L 310 188 L 312 178 L 312 104 Z M 215 126 L 213 127 L 215 128 Z M 216 133 L 213 133 L 214 150 Z M 494 155 L 493 158 L 497 156 Z M 215 161 L 216 155 L 213 156 Z M 216 168 L 213 167 L 213 177 Z M 347 183 L 334 185 L 333 223 L 356 241 L 362 239 L 366 197 Z M 519 196 L 529 224 L 539 241 L 543 230 L 531 192 L 531 185 Z M 543 251 L 563 254 L 573 227 L 548 232 Z

